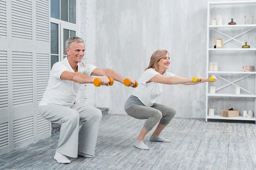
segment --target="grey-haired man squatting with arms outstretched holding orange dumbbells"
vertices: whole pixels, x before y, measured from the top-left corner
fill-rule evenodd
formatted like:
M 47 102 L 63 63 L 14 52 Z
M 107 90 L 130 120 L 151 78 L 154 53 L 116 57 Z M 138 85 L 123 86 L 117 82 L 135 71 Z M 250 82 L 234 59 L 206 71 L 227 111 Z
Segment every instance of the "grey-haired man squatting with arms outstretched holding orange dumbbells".
M 71 37 L 66 41 L 67 57 L 53 65 L 47 88 L 39 103 L 42 117 L 61 124 L 58 147 L 54 159 L 58 163 L 70 163 L 66 157 L 93 157 L 101 111 L 84 103 L 77 103 L 76 97 L 81 84 L 93 83 L 101 76 L 101 85 L 109 86 L 109 78 L 123 83 L 124 78 L 111 69 L 96 68 L 82 62 L 85 45 L 83 39 Z M 133 78 L 131 85 L 135 85 Z M 83 122 L 79 125 L 79 122 Z

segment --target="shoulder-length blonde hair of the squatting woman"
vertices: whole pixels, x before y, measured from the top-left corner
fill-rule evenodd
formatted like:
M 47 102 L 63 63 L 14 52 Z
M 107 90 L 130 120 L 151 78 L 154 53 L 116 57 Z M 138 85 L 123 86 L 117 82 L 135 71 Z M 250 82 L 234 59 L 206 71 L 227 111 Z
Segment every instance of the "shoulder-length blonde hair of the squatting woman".
M 164 58 L 166 54 L 169 54 L 167 50 L 156 50 L 150 58 L 150 62 L 149 65 L 147 66 L 147 68 L 145 68 L 145 71 L 149 68 L 154 68 L 155 71 L 158 72 L 157 70 L 157 64 L 159 62 L 160 59 Z M 165 71 L 164 71 L 165 73 Z

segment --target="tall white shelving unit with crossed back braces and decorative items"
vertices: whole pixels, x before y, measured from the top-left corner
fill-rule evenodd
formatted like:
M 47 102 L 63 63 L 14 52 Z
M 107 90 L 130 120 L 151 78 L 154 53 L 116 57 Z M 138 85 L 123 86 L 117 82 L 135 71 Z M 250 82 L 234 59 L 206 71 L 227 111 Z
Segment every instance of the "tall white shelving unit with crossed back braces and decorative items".
M 217 15 L 222 17 L 222 25 L 211 25 Z M 206 83 L 206 122 L 221 119 L 256 123 L 256 72 L 242 71 L 243 65 L 256 67 L 256 18 L 252 23 L 252 15 L 256 16 L 256 0 L 208 2 L 206 77 L 214 74 L 218 80 Z M 228 25 L 231 18 L 236 25 Z M 214 48 L 215 38 L 223 39 L 223 48 Z M 245 42 L 251 47 L 242 48 Z M 209 71 L 210 62 L 218 62 L 218 71 Z M 210 86 L 215 86 L 215 93 L 209 93 Z M 240 86 L 240 94 L 235 94 L 236 86 Z M 220 116 L 221 110 L 231 107 L 239 110 L 239 117 Z M 215 109 L 214 116 L 208 115 L 209 108 Z M 243 110 L 253 110 L 253 117 L 243 117 Z

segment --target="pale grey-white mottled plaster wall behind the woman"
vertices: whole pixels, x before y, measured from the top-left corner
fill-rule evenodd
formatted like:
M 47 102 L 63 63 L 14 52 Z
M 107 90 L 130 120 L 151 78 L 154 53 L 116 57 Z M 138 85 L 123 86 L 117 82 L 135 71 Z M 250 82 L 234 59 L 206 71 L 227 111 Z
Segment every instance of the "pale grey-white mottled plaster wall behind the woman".
M 95 64 L 138 79 L 151 54 L 166 49 L 169 72 L 206 77 L 206 34 L 206 0 L 97 0 Z M 95 106 L 126 114 L 132 90 L 119 82 L 96 88 Z M 206 84 L 166 85 L 158 102 L 174 107 L 176 117 L 205 118 L 205 91 Z

